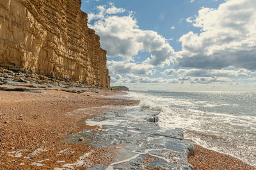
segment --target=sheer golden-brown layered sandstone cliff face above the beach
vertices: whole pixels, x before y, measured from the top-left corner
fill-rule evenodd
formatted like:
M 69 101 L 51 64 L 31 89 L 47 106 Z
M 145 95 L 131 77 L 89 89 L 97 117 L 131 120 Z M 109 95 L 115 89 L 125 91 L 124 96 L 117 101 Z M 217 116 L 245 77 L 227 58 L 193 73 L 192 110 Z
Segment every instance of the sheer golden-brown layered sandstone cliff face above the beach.
M 0 66 L 109 88 L 81 0 L 0 0 Z

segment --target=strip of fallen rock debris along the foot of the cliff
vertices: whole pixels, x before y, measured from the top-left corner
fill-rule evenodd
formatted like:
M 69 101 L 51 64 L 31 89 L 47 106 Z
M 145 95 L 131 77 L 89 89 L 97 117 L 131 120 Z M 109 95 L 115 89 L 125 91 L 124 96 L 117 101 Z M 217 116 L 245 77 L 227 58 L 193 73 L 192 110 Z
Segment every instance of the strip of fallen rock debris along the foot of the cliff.
M 4 68 L 0 68 L 0 85 L 16 86 L 0 86 L 0 91 L 26 91 L 31 93 L 41 93 L 42 90 L 56 90 L 66 91 L 69 93 L 84 93 L 85 91 L 98 93 L 98 89 L 95 87 L 70 82 L 67 79 L 52 79 L 36 73 L 22 73 L 20 71 L 13 72 L 12 70 L 7 70 Z M 60 87 L 61 89 L 54 87 Z M 70 88 L 87 89 L 79 90 Z

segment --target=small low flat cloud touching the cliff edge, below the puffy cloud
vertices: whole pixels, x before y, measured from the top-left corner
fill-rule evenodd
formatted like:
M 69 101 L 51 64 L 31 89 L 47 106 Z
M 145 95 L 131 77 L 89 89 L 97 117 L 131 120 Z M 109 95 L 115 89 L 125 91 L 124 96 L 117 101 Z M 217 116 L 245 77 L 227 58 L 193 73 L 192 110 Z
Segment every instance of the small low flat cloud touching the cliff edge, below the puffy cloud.
M 140 75 L 153 75 L 156 71 L 152 65 L 127 63 L 127 61 L 107 61 L 109 72 L 112 74 L 134 73 Z

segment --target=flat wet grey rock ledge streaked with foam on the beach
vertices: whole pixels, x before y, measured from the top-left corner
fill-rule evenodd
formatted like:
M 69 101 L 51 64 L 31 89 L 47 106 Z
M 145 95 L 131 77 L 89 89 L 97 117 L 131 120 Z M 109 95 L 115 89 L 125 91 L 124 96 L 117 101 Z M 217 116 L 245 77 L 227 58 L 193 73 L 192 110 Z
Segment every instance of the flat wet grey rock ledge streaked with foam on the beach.
M 188 157 L 194 154 L 193 144 L 184 141 L 183 132 L 159 128 L 149 118 L 152 115 L 132 107 L 94 116 L 83 124 L 99 126 L 99 130 L 68 135 L 63 143 L 79 144 L 83 138 L 93 148 L 115 146 L 112 164 L 91 169 L 192 169 Z

